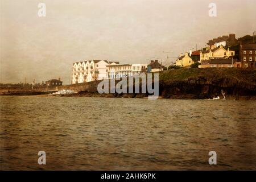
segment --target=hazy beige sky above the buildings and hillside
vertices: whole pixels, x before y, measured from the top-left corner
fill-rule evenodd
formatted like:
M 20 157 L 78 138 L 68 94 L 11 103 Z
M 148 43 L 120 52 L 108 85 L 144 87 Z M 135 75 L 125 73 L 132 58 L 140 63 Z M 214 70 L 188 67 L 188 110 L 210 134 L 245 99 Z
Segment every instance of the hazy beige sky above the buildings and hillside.
M 0 0 L 0 82 L 71 82 L 75 61 L 168 65 L 208 40 L 256 30 L 255 0 Z M 39 3 L 46 16 L 39 17 Z M 217 16 L 210 17 L 209 3 Z M 166 53 L 168 52 L 168 53 Z M 167 61 L 167 55 L 170 57 Z

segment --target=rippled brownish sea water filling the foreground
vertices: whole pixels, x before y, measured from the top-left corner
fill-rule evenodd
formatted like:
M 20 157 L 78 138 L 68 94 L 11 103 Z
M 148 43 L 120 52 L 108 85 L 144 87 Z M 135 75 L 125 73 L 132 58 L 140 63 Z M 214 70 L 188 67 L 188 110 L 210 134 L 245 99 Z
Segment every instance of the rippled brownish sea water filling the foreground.
M 1 96 L 2 170 L 256 169 L 256 102 Z M 46 165 L 38 164 L 46 152 Z M 209 151 L 217 165 L 209 165 Z

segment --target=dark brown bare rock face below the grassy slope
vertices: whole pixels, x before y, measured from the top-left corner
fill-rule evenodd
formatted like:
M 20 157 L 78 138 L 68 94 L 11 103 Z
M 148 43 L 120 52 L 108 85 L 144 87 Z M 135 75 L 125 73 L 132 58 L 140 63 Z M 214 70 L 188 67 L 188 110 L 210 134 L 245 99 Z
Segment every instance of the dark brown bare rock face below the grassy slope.
M 195 77 L 187 80 L 162 82 L 160 90 L 164 98 L 254 98 L 256 86 L 230 77 Z M 221 91 L 222 90 L 222 91 Z

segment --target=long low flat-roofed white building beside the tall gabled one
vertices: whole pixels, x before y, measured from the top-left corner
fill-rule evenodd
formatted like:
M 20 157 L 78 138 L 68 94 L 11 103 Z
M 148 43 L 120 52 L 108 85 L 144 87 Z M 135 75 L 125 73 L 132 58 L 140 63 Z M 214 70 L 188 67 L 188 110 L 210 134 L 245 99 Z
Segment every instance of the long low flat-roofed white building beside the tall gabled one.
M 110 64 L 106 67 L 108 67 L 109 78 L 129 77 L 147 71 L 147 64 Z

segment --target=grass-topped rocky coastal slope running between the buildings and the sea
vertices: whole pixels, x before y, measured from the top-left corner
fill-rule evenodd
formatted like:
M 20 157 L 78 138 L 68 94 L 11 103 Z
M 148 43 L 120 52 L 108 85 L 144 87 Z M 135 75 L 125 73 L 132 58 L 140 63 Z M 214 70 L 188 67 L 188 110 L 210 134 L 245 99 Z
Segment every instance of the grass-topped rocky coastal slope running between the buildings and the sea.
M 148 94 L 99 94 L 100 81 L 61 86 L 79 93 L 77 97 L 137 97 Z M 117 83 L 118 81 L 116 81 Z M 133 85 L 134 86 L 134 85 Z M 128 87 L 126 88 L 128 90 Z M 141 89 L 140 89 L 141 90 Z M 159 73 L 159 96 L 163 98 L 225 98 L 230 100 L 256 100 L 256 69 L 204 68 L 175 69 Z

